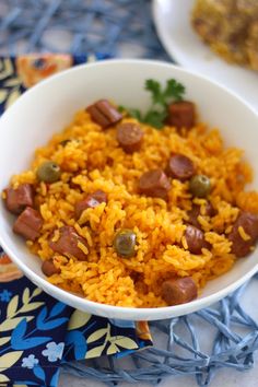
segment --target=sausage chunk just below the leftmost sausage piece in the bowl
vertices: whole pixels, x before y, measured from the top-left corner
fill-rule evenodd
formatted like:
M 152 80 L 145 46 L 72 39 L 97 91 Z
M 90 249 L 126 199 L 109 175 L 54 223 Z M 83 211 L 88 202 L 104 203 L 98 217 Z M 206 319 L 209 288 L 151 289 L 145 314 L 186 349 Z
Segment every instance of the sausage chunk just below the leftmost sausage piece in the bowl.
M 13 224 L 13 232 L 25 239 L 35 241 L 39 236 L 43 219 L 38 211 L 26 207 Z

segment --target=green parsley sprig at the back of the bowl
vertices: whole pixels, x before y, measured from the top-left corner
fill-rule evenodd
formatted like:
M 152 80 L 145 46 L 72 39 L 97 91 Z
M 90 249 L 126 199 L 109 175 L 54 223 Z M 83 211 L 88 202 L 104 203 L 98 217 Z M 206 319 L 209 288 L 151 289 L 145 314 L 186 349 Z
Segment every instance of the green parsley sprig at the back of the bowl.
M 145 87 L 151 93 L 152 105 L 143 115 L 139 109 L 126 108 L 119 106 L 120 110 L 126 110 L 129 116 L 137 118 L 139 121 L 149 124 L 156 129 L 161 129 L 167 117 L 167 107 L 172 102 L 181 101 L 185 94 L 185 86 L 174 79 L 166 81 L 166 85 L 162 89 L 161 84 L 155 80 L 146 80 Z

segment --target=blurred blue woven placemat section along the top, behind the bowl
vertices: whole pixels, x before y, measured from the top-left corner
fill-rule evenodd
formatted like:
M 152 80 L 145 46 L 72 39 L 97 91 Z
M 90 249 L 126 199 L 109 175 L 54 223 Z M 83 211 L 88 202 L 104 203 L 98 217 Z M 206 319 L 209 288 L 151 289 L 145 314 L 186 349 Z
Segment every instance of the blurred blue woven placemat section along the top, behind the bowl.
M 35 51 L 168 60 L 150 0 L 0 1 L 0 55 Z

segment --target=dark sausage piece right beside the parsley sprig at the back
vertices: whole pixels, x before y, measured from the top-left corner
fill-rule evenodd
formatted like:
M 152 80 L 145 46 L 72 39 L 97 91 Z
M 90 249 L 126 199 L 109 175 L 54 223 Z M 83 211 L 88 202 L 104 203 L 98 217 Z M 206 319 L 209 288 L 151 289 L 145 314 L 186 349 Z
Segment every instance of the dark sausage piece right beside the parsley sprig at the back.
M 195 104 L 189 101 L 174 102 L 168 106 L 168 125 L 177 129 L 192 128 L 195 126 Z

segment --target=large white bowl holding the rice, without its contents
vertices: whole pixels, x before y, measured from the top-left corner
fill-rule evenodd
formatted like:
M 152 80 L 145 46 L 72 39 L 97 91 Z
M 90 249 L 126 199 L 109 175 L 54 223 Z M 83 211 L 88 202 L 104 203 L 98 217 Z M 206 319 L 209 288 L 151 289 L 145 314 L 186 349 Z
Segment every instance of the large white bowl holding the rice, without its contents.
M 200 117 L 220 128 L 225 144 L 239 146 L 255 172 L 258 188 L 258 115 L 239 97 L 216 83 L 168 63 L 144 60 L 108 60 L 83 64 L 55 75 L 27 91 L 0 119 L 0 190 L 10 177 L 28 167 L 34 150 L 61 130 L 80 108 L 105 97 L 144 109 L 149 78 L 165 82 L 175 78 L 187 87 Z M 224 297 L 258 270 L 258 255 L 238 259 L 226 274 L 210 281 L 198 300 L 161 308 L 128 308 L 87 301 L 51 285 L 40 270 L 40 259 L 30 254 L 12 232 L 13 216 L 0 203 L 0 244 L 22 271 L 45 292 L 91 314 L 129 320 L 153 320 L 185 315 Z

